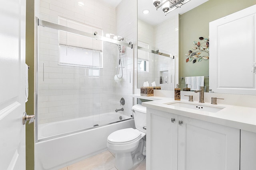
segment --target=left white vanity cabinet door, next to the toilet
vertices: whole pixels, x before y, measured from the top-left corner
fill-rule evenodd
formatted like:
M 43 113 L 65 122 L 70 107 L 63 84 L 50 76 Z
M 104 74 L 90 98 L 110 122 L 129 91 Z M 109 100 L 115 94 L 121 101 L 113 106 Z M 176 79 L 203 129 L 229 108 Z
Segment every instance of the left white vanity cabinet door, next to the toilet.
M 178 115 L 147 108 L 147 170 L 177 170 L 177 121 Z

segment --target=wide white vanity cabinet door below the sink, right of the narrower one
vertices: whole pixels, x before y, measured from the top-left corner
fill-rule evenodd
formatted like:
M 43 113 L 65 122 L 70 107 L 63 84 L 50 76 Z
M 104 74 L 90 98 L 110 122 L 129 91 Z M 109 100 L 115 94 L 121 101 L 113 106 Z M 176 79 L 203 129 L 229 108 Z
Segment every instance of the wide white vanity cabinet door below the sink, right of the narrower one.
M 240 129 L 179 115 L 178 170 L 239 170 Z

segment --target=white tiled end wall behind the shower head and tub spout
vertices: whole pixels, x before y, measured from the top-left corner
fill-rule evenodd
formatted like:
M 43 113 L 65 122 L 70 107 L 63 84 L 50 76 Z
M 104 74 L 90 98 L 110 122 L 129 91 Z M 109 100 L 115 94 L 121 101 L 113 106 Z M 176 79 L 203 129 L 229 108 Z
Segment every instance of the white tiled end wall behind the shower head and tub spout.
M 120 101 L 123 97 L 125 105 L 117 105 L 117 108 L 124 108 L 127 115 L 132 114 L 132 97 L 133 94 L 133 63 L 134 57 L 137 56 L 137 1 L 136 0 L 122 0 L 116 7 L 116 34 L 127 38 L 127 42 L 132 42 L 133 49 L 126 48 L 126 57 L 124 60 L 124 76 L 120 83 L 116 83 L 116 101 Z M 116 57 L 117 59 L 117 57 Z M 137 61 L 136 61 L 137 62 Z

